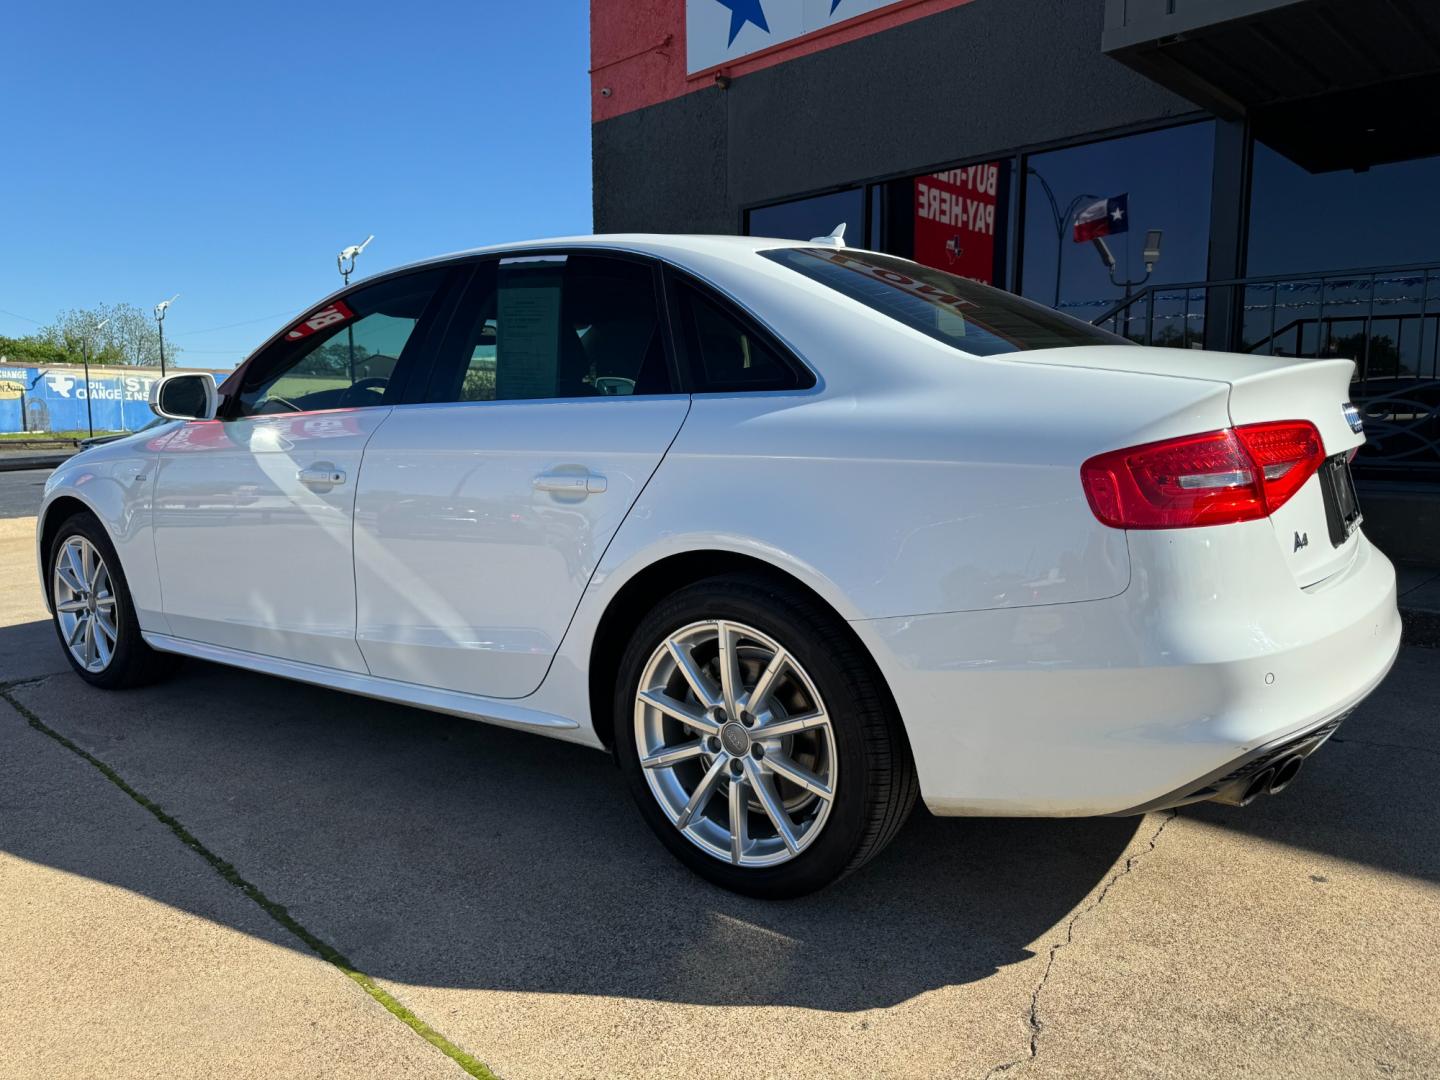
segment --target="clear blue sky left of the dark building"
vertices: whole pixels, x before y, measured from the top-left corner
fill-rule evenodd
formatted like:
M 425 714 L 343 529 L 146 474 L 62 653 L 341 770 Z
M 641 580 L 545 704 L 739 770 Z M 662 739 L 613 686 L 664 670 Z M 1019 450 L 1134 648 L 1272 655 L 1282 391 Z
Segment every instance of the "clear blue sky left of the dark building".
M 589 232 L 588 9 L 13 4 L 0 334 L 179 292 L 166 338 L 228 367 L 367 233 L 361 276 Z

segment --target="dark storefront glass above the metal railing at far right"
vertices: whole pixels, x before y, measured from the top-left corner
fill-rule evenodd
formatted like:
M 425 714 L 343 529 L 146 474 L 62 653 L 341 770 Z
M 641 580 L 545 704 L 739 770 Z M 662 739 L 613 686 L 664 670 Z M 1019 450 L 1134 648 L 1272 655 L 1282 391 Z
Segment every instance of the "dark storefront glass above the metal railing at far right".
M 1398 266 L 1440 252 L 1440 157 L 1308 173 L 1256 143 L 1251 176 L 1251 275 Z

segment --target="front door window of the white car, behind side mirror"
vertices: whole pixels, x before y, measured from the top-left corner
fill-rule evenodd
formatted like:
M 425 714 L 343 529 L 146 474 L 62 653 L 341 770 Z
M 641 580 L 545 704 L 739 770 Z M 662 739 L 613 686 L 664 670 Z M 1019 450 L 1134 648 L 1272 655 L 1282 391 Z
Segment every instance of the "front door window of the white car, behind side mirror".
M 386 405 L 446 269 L 359 288 L 304 315 L 255 359 L 240 384 L 240 416 Z

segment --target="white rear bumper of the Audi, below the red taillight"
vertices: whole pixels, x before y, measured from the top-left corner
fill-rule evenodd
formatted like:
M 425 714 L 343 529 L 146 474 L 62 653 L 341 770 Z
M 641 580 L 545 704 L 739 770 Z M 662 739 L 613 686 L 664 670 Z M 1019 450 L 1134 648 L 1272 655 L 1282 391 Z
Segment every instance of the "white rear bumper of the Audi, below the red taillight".
M 1176 805 L 1354 710 L 1400 648 L 1390 560 L 1359 537 L 1345 569 L 1299 589 L 1269 521 L 1223 528 L 1132 533 L 1132 586 L 1104 600 L 852 624 L 926 805 Z

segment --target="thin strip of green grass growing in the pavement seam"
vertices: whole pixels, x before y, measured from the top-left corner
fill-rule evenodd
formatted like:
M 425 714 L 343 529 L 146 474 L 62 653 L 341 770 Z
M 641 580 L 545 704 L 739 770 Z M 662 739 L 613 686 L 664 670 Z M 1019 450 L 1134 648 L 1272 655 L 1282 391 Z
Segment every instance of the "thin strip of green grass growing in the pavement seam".
M 420 1017 L 418 1017 L 415 1012 L 406 1008 L 405 1004 L 399 1001 L 399 998 L 396 998 L 383 986 L 377 985 L 374 979 L 372 979 L 359 968 L 356 968 L 356 965 L 351 963 L 344 956 L 344 953 L 341 953 L 333 945 L 323 942 L 320 937 L 317 937 L 304 926 L 301 926 L 298 922 L 295 922 L 295 917 L 285 910 L 284 904 L 275 903 L 268 896 L 265 896 L 265 893 L 262 893 L 256 886 L 251 884 L 243 877 L 240 877 L 240 873 L 233 865 L 226 863 L 223 858 L 210 851 L 204 844 L 202 844 L 190 832 L 190 829 L 181 825 L 180 821 L 177 821 L 163 806 L 160 806 L 156 802 L 151 802 L 148 798 L 145 798 L 138 791 L 131 788 L 130 783 L 127 783 L 125 779 L 118 772 L 105 765 L 105 762 L 102 762 L 99 757 L 96 757 L 89 750 L 79 746 L 73 740 L 56 732 L 53 727 L 40 720 L 40 717 L 36 716 L 30 708 L 20 704 L 14 698 L 12 691 L 17 685 L 24 685 L 26 683 L 30 681 L 35 680 L 23 680 L 20 683 L 0 684 L 0 697 L 9 701 L 10 707 L 14 708 L 14 711 L 17 711 L 20 716 L 23 716 L 26 723 L 30 724 L 30 727 L 33 727 L 40 734 L 49 736 L 60 746 L 63 746 L 66 750 L 81 757 L 86 763 L 92 765 L 107 780 L 114 783 L 117 788 L 125 792 L 125 795 L 128 795 L 137 804 L 144 806 L 150 812 L 150 815 L 154 816 L 156 821 L 158 821 L 167 829 L 170 829 L 180 840 L 181 844 L 184 844 L 187 848 L 194 851 L 200 858 L 209 863 L 210 868 L 215 870 L 215 873 L 217 873 L 232 886 L 245 893 L 245 896 L 253 900 L 261 907 L 261 910 L 265 912 L 265 914 L 268 914 L 276 923 L 289 930 L 289 933 L 292 933 L 295 937 L 304 942 L 305 946 L 325 963 L 338 968 L 346 975 L 346 978 L 357 984 L 366 994 L 374 998 L 384 1008 L 386 1012 L 389 1012 L 392 1017 L 395 1017 L 408 1028 L 410 1028 L 410 1031 L 413 1031 L 416 1035 L 419 1035 L 432 1047 L 445 1054 L 445 1057 L 448 1057 L 451 1061 L 464 1068 L 469 1076 L 477 1077 L 477 1080 L 498 1080 L 498 1077 L 492 1071 L 490 1071 L 488 1066 L 485 1066 L 484 1061 L 465 1053 L 458 1045 L 451 1043 L 448 1038 L 445 1038 L 445 1035 L 442 1035 L 439 1031 L 426 1024 Z

